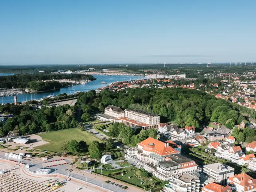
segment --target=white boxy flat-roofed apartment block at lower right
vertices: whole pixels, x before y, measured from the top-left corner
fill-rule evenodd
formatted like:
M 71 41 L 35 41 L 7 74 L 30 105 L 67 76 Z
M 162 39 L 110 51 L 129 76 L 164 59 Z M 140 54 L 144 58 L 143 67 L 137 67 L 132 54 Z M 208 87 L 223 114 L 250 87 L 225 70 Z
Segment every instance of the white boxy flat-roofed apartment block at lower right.
M 227 179 L 234 176 L 234 168 L 221 163 L 213 163 L 203 166 L 203 172 L 207 174 L 214 182 L 222 185 L 227 184 Z

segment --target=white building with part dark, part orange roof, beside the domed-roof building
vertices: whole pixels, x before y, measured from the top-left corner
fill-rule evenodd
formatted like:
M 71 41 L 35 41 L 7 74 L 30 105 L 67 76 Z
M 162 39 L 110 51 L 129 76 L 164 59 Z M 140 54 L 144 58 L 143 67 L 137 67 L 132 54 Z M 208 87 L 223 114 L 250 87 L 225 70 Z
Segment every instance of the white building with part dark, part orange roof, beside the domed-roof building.
M 153 175 L 161 180 L 169 180 L 171 177 L 199 171 L 195 161 L 179 154 L 169 155 L 165 161 L 157 163 Z

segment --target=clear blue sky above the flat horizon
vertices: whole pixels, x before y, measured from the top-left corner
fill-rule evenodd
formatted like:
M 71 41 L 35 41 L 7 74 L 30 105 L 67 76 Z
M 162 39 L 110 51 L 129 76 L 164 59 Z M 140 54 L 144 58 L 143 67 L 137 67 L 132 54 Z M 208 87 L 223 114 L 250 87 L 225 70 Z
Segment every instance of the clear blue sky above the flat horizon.
M 256 61 L 256 0 L 1 0 L 0 64 Z

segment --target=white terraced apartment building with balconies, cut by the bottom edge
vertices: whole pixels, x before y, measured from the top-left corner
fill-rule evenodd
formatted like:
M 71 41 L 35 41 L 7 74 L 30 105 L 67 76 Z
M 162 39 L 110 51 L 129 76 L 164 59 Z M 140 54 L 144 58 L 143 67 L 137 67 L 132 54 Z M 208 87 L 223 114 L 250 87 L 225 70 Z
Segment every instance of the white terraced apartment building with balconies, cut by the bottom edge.
M 165 192 L 199 192 L 199 190 L 200 179 L 195 173 L 173 176 L 164 188 Z

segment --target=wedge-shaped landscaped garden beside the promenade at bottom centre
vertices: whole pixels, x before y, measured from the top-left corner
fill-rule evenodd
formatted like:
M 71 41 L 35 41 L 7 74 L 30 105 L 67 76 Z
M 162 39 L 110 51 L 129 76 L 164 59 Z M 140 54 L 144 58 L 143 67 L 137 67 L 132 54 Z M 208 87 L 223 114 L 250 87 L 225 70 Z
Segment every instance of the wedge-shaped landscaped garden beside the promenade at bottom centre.
M 97 173 L 97 171 L 95 171 L 95 173 Z M 98 170 L 98 174 L 101 174 L 101 170 Z M 134 166 L 116 170 L 102 170 L 102 174 L 126 182 L 127 184 L 132 184 L 143 189 L 145 188 L 146 190 L 161 188 L 164 185 L 161 180 L 149 176 L 148 172 Z M 117 182 L 118 181 L 116 181 L 116 183 Z

